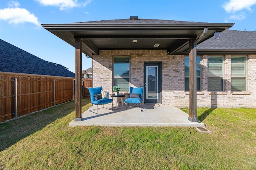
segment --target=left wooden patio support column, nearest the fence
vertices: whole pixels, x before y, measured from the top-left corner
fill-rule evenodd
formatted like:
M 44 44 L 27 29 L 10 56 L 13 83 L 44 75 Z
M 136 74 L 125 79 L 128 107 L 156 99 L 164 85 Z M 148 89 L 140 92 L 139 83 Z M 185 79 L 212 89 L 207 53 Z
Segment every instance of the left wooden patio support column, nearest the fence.
M 74 121 L 82 121 L 82 40 L 75 39 L 76 48 L 76 118 Z

